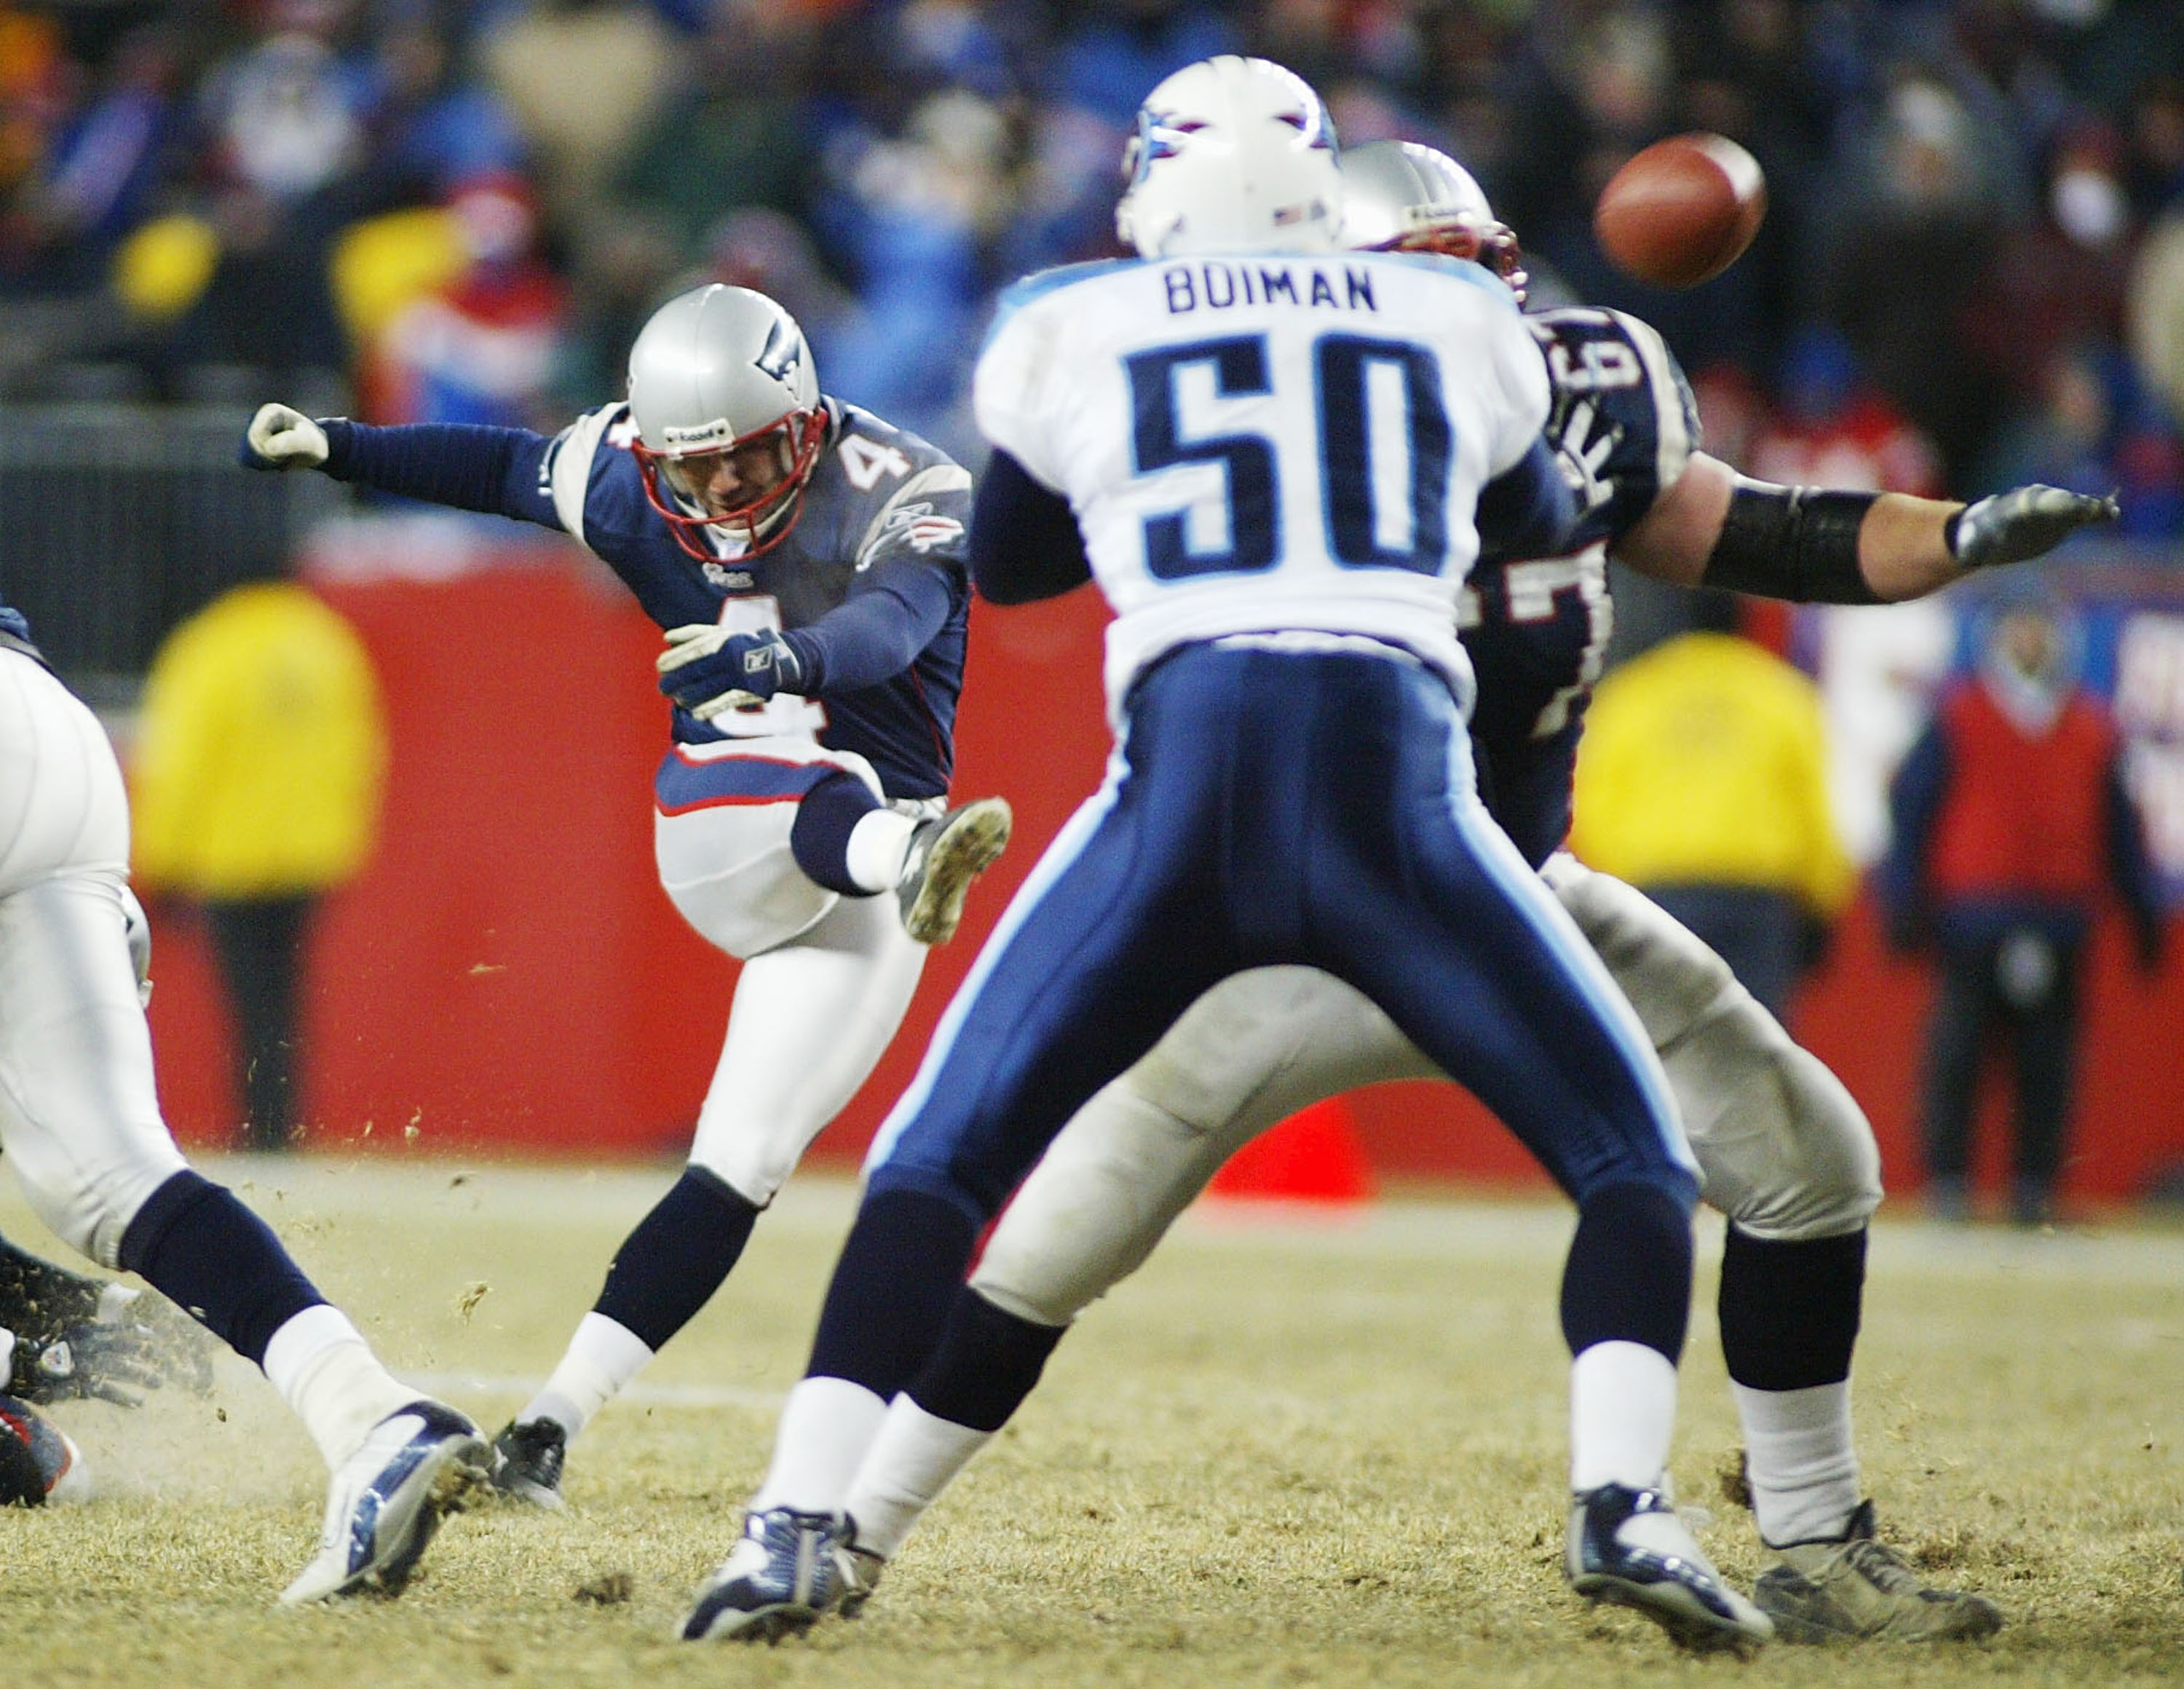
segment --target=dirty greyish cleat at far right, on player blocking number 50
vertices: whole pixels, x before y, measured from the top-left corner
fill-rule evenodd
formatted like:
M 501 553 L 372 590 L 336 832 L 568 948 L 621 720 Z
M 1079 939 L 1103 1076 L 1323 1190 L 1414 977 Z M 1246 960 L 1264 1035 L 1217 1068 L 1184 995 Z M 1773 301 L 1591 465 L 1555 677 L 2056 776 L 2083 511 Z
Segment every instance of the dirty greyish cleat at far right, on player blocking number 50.
M 1872 1501 L 1859 1503 L 1839 1538 L 1791 1543 L 1776 1556 L 1752 1599 L 1787 1643 L 1974 1641 L 2003 1628 L 2003 1610 L 1985 1595 L 1922 1584 L 1874 1534 Z

